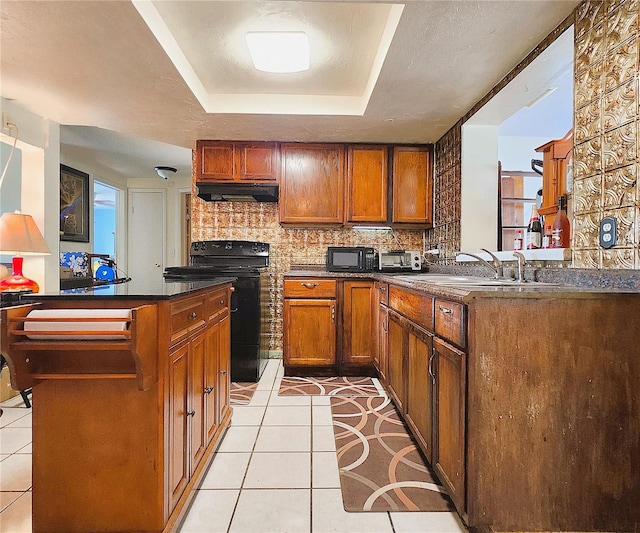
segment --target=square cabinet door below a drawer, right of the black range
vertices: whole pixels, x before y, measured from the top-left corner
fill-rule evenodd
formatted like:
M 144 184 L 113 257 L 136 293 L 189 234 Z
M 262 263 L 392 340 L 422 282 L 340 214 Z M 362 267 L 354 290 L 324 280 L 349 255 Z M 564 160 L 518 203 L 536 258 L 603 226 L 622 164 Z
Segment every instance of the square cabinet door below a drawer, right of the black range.
M 286 298 L 285 366 L 336 364 L 336 301 Z

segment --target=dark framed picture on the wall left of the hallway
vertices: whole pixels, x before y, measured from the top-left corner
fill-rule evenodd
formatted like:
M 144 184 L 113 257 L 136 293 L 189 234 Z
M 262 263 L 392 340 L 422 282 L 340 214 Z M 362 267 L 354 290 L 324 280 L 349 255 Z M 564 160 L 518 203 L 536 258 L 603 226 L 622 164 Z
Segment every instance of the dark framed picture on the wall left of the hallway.
M 60 165 L 60 240 L 89 242 L 89 174 Z

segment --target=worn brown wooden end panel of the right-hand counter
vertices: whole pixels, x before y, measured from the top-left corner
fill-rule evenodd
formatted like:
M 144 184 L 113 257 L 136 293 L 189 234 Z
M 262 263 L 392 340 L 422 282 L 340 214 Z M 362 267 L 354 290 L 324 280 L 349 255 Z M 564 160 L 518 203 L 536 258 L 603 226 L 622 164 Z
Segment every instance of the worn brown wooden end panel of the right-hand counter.
M 471 525 L 638 527 L 639 311 L 638 295 L 474 299 Z

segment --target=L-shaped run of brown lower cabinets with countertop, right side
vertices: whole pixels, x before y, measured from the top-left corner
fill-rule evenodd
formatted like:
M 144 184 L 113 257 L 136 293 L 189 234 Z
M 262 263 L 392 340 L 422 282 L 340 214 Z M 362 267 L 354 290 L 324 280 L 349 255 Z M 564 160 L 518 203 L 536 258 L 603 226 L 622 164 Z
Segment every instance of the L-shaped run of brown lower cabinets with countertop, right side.
M 340 289 L 356 282 L 367 288 L 357 313 Z M 321 310 L 313 334 L 334 347 L 325 366 L 339 369 L 353 346 L 366 346 L 468 526 L 638 529 L 638 292 L 302 269 L 285 275 L 284 292 L 285 369 L 318 364 L 287 299 Z

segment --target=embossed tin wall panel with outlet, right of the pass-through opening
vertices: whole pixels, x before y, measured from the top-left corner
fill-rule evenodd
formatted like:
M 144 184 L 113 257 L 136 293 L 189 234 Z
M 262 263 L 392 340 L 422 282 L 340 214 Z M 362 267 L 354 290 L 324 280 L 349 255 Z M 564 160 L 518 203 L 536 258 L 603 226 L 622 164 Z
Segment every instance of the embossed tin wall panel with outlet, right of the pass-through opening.
M 575 12 L 573 266 L 640 268 L 640 1 L 588 0 Z M 615 217 L 618 239 L 599 246 Z

